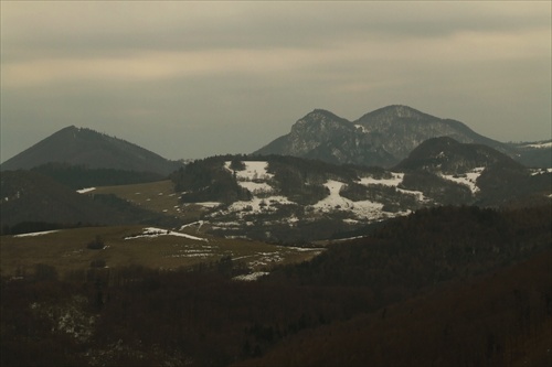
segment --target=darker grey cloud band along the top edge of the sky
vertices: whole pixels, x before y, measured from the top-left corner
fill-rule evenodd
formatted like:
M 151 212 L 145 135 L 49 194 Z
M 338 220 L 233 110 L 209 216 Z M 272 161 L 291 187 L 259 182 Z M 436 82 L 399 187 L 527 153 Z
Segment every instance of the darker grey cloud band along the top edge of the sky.
M 519 3 L 93 2 L 60 3 L 65 11 L 57 12 L 47 2 L 18 4 L 39 6 L 49 11 L 3 17 L 7 57 L 10 47 L 22 45 L 41 53 L 94 57 L 137 50 L 320 47 L 354 37 L 391 41 L 550 26 L 550 14 L 520 11 Z

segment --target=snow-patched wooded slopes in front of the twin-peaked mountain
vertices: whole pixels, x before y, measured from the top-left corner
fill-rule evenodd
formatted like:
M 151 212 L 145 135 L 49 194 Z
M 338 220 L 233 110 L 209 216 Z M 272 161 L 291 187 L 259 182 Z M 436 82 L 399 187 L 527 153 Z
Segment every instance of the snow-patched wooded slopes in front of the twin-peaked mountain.
M 450 138 L 424 142 L 391 170 L 282 155 L 215 156 L 171 179 L 184 211 L 204 207 L 203 230 L 269 241 L 347 237 L 423 207 L 532 206 L 552 197 L 551 171 Z

